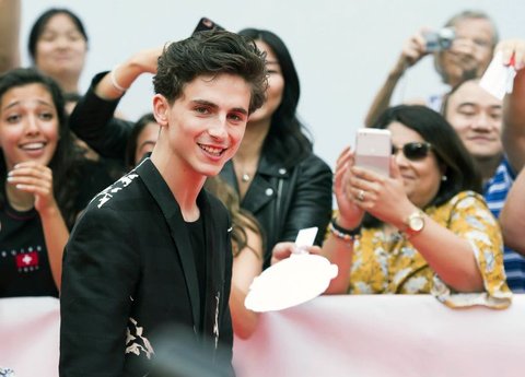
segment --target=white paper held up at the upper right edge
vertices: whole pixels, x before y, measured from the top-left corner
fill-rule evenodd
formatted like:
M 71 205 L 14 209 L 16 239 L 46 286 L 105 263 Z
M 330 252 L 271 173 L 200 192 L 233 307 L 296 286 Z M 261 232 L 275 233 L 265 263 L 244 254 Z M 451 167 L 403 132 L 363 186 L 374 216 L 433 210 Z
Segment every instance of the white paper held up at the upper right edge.
M 503 99 L 505 93 L 512 93 L 515 75 L 516 70 L 514 67 L 503 66 L 502 54 L 498 51 L 487 68 L 487 71 L 485 71 L 479 86 L 494 97 Z

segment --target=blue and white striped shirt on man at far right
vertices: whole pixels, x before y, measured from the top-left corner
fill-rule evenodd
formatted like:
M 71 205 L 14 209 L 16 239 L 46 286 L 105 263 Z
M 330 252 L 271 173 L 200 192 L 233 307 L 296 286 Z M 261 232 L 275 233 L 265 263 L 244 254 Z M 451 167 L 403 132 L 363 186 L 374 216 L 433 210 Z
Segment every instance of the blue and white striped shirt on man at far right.
M 515 174 L 506 158 L 495 169 L 483 187 L 483 197 L 492 214 L 498 219 L 506 195 L 514 182 Z M 525 293 L 525 258 L 505 246 L 503 254 L 506 282 L 515 293 Z

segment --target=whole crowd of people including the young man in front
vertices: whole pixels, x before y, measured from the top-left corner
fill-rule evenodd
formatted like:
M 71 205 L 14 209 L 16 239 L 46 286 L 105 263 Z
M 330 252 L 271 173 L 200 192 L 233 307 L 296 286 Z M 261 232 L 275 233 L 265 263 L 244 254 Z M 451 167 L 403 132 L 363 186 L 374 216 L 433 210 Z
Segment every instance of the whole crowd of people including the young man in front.
M 525 40 L 500 42 L 486 13 L 451 17 L 447 48 L 423 30 L 402 47 L 364 120 L 392 134 L 385 176 L 350 146 L 334 172 L 314 153 L 273 32 L 196 32 L 80 93 L 81 19 L 44 12 L 21 68 L 20 1 L 0 4 L 0 298 L 60 298 L 61 376 L 143 376 L 173 331 L 231 375 L 233 334 L 257 328 L 253 280 L 307 227 L 307 250 L 338 266 L 326 294 L 505 308 L 525 293 Z M 497 52 L 516 69 L 503 99 L 479 85 Z M 450 91 L 393 106 L 427 55 Z M 117 106 L 143 73 L 152 111 L 132 121 Z

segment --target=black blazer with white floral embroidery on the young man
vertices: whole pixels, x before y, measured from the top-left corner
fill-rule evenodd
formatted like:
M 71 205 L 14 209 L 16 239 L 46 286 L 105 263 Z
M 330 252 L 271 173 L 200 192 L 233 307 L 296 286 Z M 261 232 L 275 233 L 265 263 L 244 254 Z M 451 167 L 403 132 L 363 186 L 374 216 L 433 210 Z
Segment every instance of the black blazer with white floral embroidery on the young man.
M 207 249 L 203 308 L 179 207 L 150 158 L 92 200 L 65 250 L 60 376 L 142 377 L 155 330 L 167 325 L 192 334 L 207 361 L 221 351 L 231 366 L 230 217 L 206 191 L 198 205 Z

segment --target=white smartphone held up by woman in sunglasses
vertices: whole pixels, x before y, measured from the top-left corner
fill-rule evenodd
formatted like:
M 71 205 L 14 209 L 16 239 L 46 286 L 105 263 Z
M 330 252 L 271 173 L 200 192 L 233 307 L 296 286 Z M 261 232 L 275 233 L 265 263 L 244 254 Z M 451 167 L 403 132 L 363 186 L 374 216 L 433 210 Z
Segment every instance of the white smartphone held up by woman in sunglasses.
M 390 175 L 392 134 L 389 130 L 361 128 L 355 134 L 355 166 L 384 176 Z

